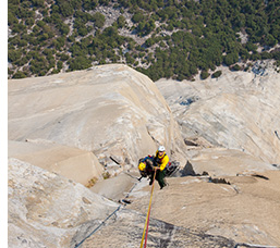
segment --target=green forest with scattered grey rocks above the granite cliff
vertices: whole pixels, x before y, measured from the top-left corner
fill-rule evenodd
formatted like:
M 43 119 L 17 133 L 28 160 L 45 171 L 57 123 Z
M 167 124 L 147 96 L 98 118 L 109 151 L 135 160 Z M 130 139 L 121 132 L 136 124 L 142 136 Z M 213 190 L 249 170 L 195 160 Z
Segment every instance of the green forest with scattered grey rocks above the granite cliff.
M 8 25 L 9 78 L 125 63 L 153 80 L 205 79 L 221 64 L 280 65 L 280 0 L 9 0 Z

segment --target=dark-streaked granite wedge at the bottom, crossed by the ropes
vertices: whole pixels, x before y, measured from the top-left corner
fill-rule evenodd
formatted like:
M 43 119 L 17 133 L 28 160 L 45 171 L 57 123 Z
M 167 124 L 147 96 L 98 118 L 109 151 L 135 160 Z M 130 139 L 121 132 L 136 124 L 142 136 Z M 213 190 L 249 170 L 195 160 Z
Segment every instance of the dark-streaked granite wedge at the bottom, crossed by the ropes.
M 110 224 L 87 238 L 83 248 L 139 247 L 145 219 L 145 214 L 123 209 Z M 236 245 L 234 240 L 219 235 L 193 232 L 155 219 L 150 219 L 148 234 L 147 247 L 232 248 Z

